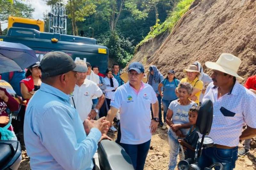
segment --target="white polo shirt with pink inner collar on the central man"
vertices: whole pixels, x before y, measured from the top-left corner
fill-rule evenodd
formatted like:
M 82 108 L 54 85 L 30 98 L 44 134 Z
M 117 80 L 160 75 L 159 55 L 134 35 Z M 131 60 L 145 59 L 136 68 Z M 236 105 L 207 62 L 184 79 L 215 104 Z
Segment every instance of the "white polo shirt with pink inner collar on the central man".
M 156 101 L 156 92 L 145 83 L 138 94 L 129 82 L 116 89 L 110 106 L 120 109 L 121 143 L 142 144 L 151 139 L 150 104 Z

